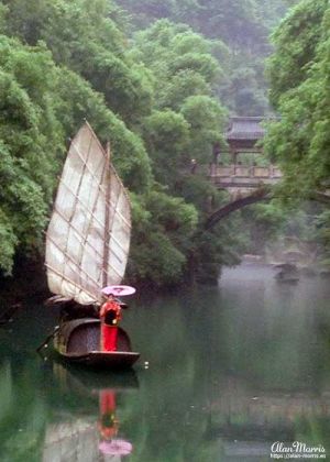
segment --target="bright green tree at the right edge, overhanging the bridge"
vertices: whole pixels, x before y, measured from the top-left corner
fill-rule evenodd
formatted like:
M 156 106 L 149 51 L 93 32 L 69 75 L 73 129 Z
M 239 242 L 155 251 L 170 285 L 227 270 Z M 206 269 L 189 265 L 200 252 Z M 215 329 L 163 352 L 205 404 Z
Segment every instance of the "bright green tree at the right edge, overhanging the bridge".
M 326 0 L 304 0 L 274 35 L 270 61 L 273 103 L 266 150 L 285 173 L 288 196 L 309 195 L 329 180 L 329 24 Z

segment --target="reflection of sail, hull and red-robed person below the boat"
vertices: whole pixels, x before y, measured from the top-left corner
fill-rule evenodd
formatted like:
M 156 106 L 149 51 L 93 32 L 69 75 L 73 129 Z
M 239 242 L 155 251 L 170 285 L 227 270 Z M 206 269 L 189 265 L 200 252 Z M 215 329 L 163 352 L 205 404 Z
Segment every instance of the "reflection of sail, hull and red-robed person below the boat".
M 133 444 L 121 432 L 118 410 L 124 406 L 122 395 L 139 387 L 134 372 L 109 375 L 54 363 L 54 375 L 61 395 L 75 396 L 80 407 L 74 413 L 61 408 L 54 411 L 45 432 L 43 461 L 97 461 L 111 457 L 111 461 L 119 462 L 129 455 Z

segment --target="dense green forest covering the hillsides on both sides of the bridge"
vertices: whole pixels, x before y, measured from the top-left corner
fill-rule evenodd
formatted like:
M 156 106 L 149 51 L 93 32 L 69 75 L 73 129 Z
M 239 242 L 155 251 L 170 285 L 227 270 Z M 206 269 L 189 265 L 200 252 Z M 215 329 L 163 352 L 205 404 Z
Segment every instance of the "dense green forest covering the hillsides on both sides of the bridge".
M 280 114 L 265 148 L 285 174 L 282 200 L 251 216 L 254 233 L 262 224 L 267 239 L 297 227 L 300 217 L 288 221 L 283 202 L 329 180 L 330 9 L 326 0 L 296 3 L 2 0 L 2 274 L 42 261 L 68 138 L 85 118 L 110 140 L 131 195 L 130 282 L 215 280 L 251 249 L 244 213 L 201 232 L 228 197 L 190 172 L 191 158 L 204 172 L 213 145 L 224 143 L 230 114 Z M 330 212 L 320 208 L 306 233 L 329 249 L 329 229 Z

